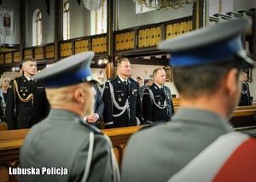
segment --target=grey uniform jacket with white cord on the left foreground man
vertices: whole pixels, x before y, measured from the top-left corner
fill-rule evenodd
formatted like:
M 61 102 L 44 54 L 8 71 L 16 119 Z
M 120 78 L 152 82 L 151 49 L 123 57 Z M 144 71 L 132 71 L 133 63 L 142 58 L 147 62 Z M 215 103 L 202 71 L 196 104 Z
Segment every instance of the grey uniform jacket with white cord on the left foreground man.
M 108 138 L 82 121 L 71 111 L 52 109 L 49 117 L 32 127 L 20 149 L 20 167 L 41 171 L 40 175 L 20 175 L 20 181 L 81 181 L 90 156 L 91 131 L 94 133 L 94 145 L 87 181 L 118 179 Z M 43 173 L 44 168 L 49 173 Z M 67 175 L 55 175 L 58 168 L 67 168 Z

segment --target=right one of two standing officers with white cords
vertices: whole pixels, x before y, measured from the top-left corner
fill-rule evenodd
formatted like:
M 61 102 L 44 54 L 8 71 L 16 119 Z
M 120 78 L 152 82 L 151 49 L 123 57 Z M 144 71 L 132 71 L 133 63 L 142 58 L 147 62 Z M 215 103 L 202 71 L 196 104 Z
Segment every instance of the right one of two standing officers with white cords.
M 165 86 L 166 71 L 153 71 L 154 83 L 143 92 L 143 117 L 146 123 L 171 121 L 174 107 L 170 88 Z

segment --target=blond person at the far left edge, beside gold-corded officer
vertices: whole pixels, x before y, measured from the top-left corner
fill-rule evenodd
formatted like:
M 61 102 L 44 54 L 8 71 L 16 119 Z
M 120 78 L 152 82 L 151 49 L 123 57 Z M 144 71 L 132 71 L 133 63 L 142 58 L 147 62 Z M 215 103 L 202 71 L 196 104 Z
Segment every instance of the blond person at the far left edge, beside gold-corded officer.
M 2 76 L 0 78 L 0 122 L 6 122 L 6 118 L 4 115 L 5 107 L 6 107 L 6 96 L 7 96 L 7 88 L 9 87 L 9 77 Z

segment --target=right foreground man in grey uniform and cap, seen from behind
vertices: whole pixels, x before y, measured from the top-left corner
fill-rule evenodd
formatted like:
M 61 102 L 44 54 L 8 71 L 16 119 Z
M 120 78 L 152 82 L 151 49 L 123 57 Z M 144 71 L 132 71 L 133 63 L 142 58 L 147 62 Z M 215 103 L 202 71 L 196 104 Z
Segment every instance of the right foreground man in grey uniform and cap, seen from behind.
M 228 20 L 159 44 L 171 54 L 180 107 L 172 122 L 131 136 L 122 182 L 167 181 L 215 139 L 233 131 L 229 120 L 241 93 L 240 73 L 254 64 L 241 43 L 248 26 L 245 19 Z

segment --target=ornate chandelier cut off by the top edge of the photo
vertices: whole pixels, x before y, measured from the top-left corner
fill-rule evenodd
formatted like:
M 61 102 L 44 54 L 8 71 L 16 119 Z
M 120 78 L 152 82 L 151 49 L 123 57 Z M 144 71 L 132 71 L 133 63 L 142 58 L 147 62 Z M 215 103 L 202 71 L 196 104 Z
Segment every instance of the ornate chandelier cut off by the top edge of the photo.
M 135 3 L 144 4 L 149 9 L 179 9 L 183 4 L 195 3 L 196 0 L 133 0 Z

